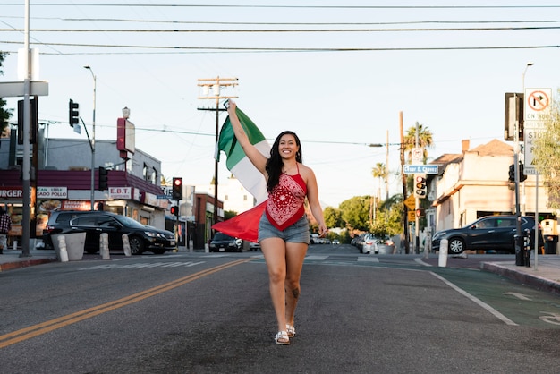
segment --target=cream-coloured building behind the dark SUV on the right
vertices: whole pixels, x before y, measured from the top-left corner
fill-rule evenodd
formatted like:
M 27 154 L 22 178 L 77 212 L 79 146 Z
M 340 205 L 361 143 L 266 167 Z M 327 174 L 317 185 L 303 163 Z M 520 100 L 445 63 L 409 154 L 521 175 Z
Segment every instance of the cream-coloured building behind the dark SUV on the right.
M 483 216 L 515 213 L 515 191 L 508 182 L 509 166 L 513 164 L 512 146 L 491 140 L 469 149 L 469 141 L 465 140 L 461 154 L 442 155 L 431 164 L 439 165 L 439 174 L 429 185 L 435 214 L 431 220 L 432 232 L 462 227 Z M 520 184 L 522 215 L 534 217 L 536 178 L 529 175 Z M 538 193 L 539 218 L 556 219 L 556 211 L 548 207 L 547 191 L 542 184 Z

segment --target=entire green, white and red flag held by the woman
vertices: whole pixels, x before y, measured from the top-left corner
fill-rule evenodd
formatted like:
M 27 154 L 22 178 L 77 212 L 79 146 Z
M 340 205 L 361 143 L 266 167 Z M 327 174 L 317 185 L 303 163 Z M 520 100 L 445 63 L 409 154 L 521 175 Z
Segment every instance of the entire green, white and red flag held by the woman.
M 251 144 L 257 147 L 264 156 L 270 157 L 270 145 L 255 123 L 239 107 L 235 109 L 235 113 Z M 217 161 L 220 160 L 220 151 L 225 153 L 225 166 L 242 183 L 243 187 L 255 197 L 257 206 L 227 221 L 218 222 L 212 225 L 212 228 L 243 240 L 257 242 L 259 219 L 267 205 L 267 181 L 264 175 L 250 162 L 243 152 L 242 146 L 237 142 L 229 116 L 225 119 L 216 144 L 215 158 Z

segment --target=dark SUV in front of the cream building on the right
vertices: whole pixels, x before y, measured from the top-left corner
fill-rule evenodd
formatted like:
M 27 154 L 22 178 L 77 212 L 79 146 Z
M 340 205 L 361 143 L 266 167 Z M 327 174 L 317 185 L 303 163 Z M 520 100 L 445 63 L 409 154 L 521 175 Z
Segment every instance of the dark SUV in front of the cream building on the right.
M 481 217 L 462 228 L 438 231 L 432 238 L 432 249 L 439 250 L 442 239 L 448 241 L 448 252 L 459 254 L 467 250 L 509 251 L 515 253 L 514 236 L 517 234 L 517 217 Z M 522 233 L 530 230 L 530 242 L 535 239 L 535 218 L 521 217 Z M 539 248 L 544 245 L 539 225 Z M 531 248 L 534 244 L 531 244 Z

